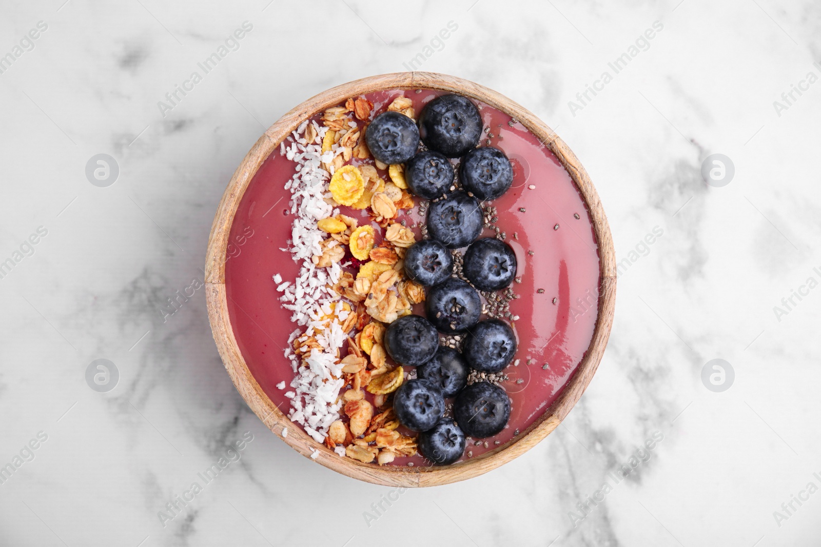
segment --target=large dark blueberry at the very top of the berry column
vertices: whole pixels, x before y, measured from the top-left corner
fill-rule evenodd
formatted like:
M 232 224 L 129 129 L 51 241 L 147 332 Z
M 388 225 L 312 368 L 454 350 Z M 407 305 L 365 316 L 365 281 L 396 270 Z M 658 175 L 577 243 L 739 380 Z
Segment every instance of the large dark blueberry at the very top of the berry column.
M 461 157 L 479 144 L 482 116 L 469 98 L 443 95 L 422 109 L 419 133 L 428 148 L 447 157 Z

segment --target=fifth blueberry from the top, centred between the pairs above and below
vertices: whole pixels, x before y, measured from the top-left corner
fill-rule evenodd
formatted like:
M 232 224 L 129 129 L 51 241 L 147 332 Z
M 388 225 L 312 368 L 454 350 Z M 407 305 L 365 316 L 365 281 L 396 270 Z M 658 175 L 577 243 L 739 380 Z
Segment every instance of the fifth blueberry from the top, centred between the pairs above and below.
M 473 243 L 483 227 L 484 217 L 479 200 L 461 190 L 431 203 L 428 209 L 428 233 L 447 248 L 460 248 Z

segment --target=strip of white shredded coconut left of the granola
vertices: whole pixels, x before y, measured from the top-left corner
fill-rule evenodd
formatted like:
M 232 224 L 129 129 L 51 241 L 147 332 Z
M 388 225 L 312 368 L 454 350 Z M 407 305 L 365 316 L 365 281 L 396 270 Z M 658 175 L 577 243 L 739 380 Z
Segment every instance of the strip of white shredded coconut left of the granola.
M 273 281 L 277 290 L 282 292 L 282 307 L 293 312 L 291 321 L 305 331 L 294 330 L 288 337 L 285 356 L 291 360 L 295 374 L 291 381 L 293 391 L 285 396 L 291 399 L 291 412 L 288 417 L 305 427 L 305 431 L 317 442 L 323 442 L 328 435 L 328 427 L 339 419 L 339 390 L 345 385 L 342 380 L 342 364 L 337 363 L 337 349 L 346 341 L 341 322 L 347 312 L 337 302 L 340 297 L 331 288 L 342 275 L 342 267 L 333 264 L 330 267 L 315 267 L 311 258 L 322 254 L 319 244 L 326 234 L 319 230 L 317 221 L 338 214 L 331 205 L 325 202 L 328 192 L 328 171 L 321 164 L 325 159 L 322 153 L 322 138 L 327 127 L 320 127 L 316 121 L 310 121 L 316 130 L 313 143 L 305 139 L 308 121 L 304 121 L 283 143 L 280 153 L 296 162 L 295 174 L 288 180 L 285 189 L 291 191 L 291 213 L 295 219 L 291 225 L 291 239 L 288 240 L 291 257 L 301 262 L 299 276 L 294 281 L 282 282 L 282 276 L 276 274 Z M 329 152 L 333 160 L 334 151 Z M 328 153 L 325 154 L 326 156 Z M 326 317 L 330 317 L 328 320 Z M 311 349 L 302 356 L 305 366 L 300 367 L 300 358 L 293 350 L 293 341 L 314 337 L 320 348 Z M 277 387 L 279 387 L 277 385 Z M 283 386 L 284 387 L 284 386 Z M 317 455 L 319 453 L 316 453 Z M 312 455 L 315 458 L 315 455 Z

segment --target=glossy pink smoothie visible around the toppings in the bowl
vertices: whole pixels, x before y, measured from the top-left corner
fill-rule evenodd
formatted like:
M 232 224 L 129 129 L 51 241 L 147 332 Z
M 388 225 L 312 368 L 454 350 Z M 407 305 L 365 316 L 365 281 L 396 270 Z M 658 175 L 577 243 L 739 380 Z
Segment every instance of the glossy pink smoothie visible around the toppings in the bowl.
M 414 101 L 418 113 L 439 94 L 428 89 L 397 89 L 366 97 L 380 112 L 404 95 Z M 486 129 L 481 145 L 502 149 L 514 166 L 512 188 L 489 204 L 497 207 L 496 226 L 507 234 L 506 241 L 518 260 L 516 275 L 521 283 L 512 287 L 520 298 L 512 300 L 510 307 L 519 317 L 511 323 L 519 340 L 514 358 L 519 365 L 511 363 L 504 370 L 510 378 L 502 383 L 511 398 L 507 428 L 483 440 L 488 442 L 487 449 L 469 442 L 464 458 L 468 451 L 475 458 L 497 448 L 495 441 L 504 444 L 516 431 L 525 431 L 562 393 L 593 337 L 599 294 L 598 245 L 570 175 L 523 125 L 511 125 L 510 116 L 484 103 L 478 106 Z M 276 385 L 285 381 L 289 386 L 293 378 L 283 349 L 296 324 L 290 321 L 291 312 L 280 306 L 280 294 L 271 278 L 279 273 L 283 281 L 293 280 L 299 271 L 291 253 L 280 250 L 288 246 L 293 220 L 291 194 L 283 186 L 295 166 L 277 148 L 259 168 L 237 209 L 225 267 L 228 312 L 242 355 L 256 381 L 286 414 L 291 402 L 285 392 L 291 388 L 277 390 Z M 380 171 L 380 175 L 389 180 L 387 172 Z M 367 221 L 360 211 L 343 208 L 342 212 L 360 219 L 360 224 Z M 416 208 L 404 218 L 409 225 L 424 222 Z M 488 235 L 493 231 L 485 230 L 483 236 Z M 393 464 L 410 462 L 420 466 L 427 461 L 414 456 L 397 458 Z

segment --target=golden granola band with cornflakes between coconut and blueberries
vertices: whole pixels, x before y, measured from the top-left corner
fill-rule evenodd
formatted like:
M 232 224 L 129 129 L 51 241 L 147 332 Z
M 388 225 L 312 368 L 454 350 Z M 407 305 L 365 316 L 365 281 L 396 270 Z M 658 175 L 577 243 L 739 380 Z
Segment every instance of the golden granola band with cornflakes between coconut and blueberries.
M 299 388 L 300 376 L 310 376 L 310 383 L 316 384 L 305 369 L 325 358 L 332 363 L 318 387 L 336 389 L 329 404 L 332 412 L 323 414 L 319 424 L 311 423 L 314 417 L 307 415 L 315 408 L 298 401 L 298 392 L 289 392 L 294 395 L 291 419 L 305 417 L 307 424 L 300 423 L 306 431 L 337 454 L 383 465 L 416 453 L 415 438 L 396 431 L 399 422 L 390 400 L 405 372 L 388 362 L 383 335 L 387 324 L 424 301 L 424 287 L 404 275 L 406 249 L 416 240 L 413 230 L 398 221 L 401 212 L 415 206 L 404 167 L 371 160 L 365 144 L 373 108 L 365 98 L 350 98 L 344 106 L 328 108 L 320 119 L 322 125 L 311 121 L 294 134 L 294 157 L 301 149 L 317 153 L 323 179 L 328 180 L 323 202 L 329 214 L 311 228 L 319 238 L 310 265 L 338 275 L 326 276 L 324 286 L 333 293 L 332 302 L 308 312 L 311 321 L 304 331 L 292 335 L 287 353 L 297 363 L 292 387 Z M 415 116 L 408 98 L 397 98 L 388 110 Z M 380 171 L 387 171 L 387 178 Z M 340 206 L 365 211 L 368 222 L 360 226 L 356 218 L 340 213 Z M 327 343 L 330 338 L 338 341 L 340 333 L 344 344 Z M 373 403 L 366 394 L 373 394 Z

